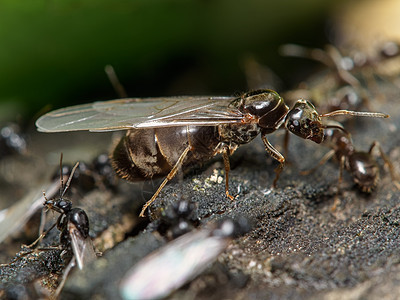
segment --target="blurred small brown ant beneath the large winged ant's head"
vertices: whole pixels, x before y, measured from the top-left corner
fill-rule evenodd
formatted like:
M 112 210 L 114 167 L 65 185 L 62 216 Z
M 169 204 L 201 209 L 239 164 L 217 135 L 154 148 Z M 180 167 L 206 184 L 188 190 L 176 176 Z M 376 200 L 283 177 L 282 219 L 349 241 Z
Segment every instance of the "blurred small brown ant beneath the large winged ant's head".
M 332 148 L 332 150 L 323 156 L 316 167 L 301 172 L 302 175 L 310 174 L 315 171 L 318 166 L 323 165 L 335 156 L 340 163 L 339 185 L 342 182 L 343 169 L 346 169 L 353 177 L 354 183 L 362 192 L 371 193 L 380 179 L 379 166 L 372 155 L 373 149 L 378 148 L 380 156 L 384 160 L 385 164 L 389 166 L 389 171 L 394 184 L 400 189 L 400 184 L 397 181 L 393 165 L 379 142 L 374 141 L 368 152 L 356 151 L 350 133 L 347 132 L 340 123 L 332 122 L 332 124 L 335 125 L 331 125 L 327 130 L 325 130 L 324 134 L 325 143 L 328 147 Z

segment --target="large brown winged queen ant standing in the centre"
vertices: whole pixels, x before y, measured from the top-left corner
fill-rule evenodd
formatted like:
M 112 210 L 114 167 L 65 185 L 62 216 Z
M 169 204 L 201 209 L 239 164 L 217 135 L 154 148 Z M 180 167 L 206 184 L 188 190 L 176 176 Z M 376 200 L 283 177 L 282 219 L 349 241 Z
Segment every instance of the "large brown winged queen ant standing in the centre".
M 322 117 L 335 115 L 387 117 L 378 113 L 339 110 L 319 115 L 300 99 L 289 110 L 273 90 L 258 90 L 240 97 L 169 97 L 121 99 L 80 105 L 50 112 L 36 122 L 44 132 L 128 129 L 111 154 L 117 174 L 129 181 L 166 178 L 144 205 L 140 216 L 181 167 L 206 161 L 221 153 L 225 166 L 225 193 L 230 199 L 229 155 L 261 135 L 266 151 L 278 162 L 277 183 L 285 158 L 267 135 L 285 124 L 290 132 L 316 143 L 323 140 Z

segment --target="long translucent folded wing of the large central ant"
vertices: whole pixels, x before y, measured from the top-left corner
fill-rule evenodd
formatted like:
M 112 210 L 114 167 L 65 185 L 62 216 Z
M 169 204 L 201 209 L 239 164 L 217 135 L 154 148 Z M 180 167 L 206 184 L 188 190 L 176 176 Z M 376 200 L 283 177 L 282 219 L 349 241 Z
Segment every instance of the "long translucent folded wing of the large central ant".
M 238 123 L 242 114 L 228 108 L 233 97 L 129 98 L 55 110 L 36 121 L 39 131 L 114 131 L 180 125 Z

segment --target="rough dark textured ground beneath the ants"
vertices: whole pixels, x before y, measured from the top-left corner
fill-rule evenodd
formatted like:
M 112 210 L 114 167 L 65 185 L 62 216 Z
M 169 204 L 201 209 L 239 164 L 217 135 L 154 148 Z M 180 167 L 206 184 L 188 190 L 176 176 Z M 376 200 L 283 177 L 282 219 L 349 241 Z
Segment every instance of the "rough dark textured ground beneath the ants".
M 399 171 L 398 88 L 390 82 L 379 84 L 379 95 L 385 99 L 371 99 L 369 106 L 389 113 L 391 118 L 353 118 L 346 121 L 346 128 L 360 150 L 367 151 L 372 141 L 378 140 Z M 108 134 L 32 133 L 29 159 L 16 157 L 1 162 L 3 178 L 10 177 L 3 179 L 3 185 L 14 184 L 14 188 L 4 189 L 1 203 L 6 206 L 7 199 L 18 199 L 28 190 L 40 191 L 41 184 L 57 169 L 61 151 L 66 162 L 90 161 L 96 153 L 108 149 L 111 139 Z M 283 130 L 273 134 L 271 140 L 281 145 Z M 74 190 L 77 183 L 73 182 L 70 198 L 87 212 L 90 235 L 103 254 L 83 271 L 71 272 L 61 299 L 119 298 L 118 285 L 126 271 L 167 243 L 166 237 L 154 230 L 160 208 L 182 197 L 195 204 L 199 227 L 244 216 L 252 229 L 232 240 L 215 263 L 173 293 L 172 299 L 398 299 L 400 192 L 381 158 L 377 158 L 381 180 L 370 195 L 361 193 L 347 172 L 338 191 L 339 167 L 335 161 L 311 175 L 299 175 L 301 170 L 315 166 L 327 151 L 292 136 L 290 163 L 278 188 L 271 189 L 277 164 L 256 139 L 231 158 L 230 187 L 238 195 L 235 201 L 227 200 L 223 182 L 217 183 L 224 177 L 222 159 L 217 157 L 183 180 L 168 184 L 151 207 L 150 219 L 137 215 L 144 198 L 151 194 L 151 184 L 119 182 L 114 190 L 82 192 Z M 22 232 L 0 245 L 2 263 L 9 263 L 21 244 L 35 239 L 39 219 L 35 215 Z M 53 242 L 57 239 L 54 234 Z M 39 259 L 0 267 L 2 297 L 31 295 L 33 282 L 54 290 L 65 261 L 53 252 L 35 255 Z M 18 276 L 21 270 L 30 276 Z M 159 271 L 154 270 L 155 282 Z

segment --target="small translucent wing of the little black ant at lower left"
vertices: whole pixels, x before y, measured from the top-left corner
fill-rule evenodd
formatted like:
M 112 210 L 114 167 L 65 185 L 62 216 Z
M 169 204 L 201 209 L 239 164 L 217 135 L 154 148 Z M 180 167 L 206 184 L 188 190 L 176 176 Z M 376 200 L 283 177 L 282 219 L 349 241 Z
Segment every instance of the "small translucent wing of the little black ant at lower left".
M 89 236 L 84 238 L 72 222 L 68 222 L 68 232 L 77 265 L 82 270 L 85 264 L 96 258 L 92 240 Z

